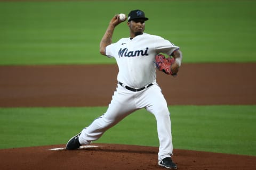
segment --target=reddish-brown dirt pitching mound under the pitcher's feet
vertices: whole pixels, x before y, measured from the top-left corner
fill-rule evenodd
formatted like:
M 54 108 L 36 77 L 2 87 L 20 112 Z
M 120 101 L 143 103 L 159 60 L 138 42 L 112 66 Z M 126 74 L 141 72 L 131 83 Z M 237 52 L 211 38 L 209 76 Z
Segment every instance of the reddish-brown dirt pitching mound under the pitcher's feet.
M 94 143 L 78 150 L 64 145 L 0 150 L 0 169 L 165 169 L 157 147 Z M 57 150 L 50 150 L 60 148 Z M 174 149 L 179 169 L 256 169 L 256 157 Z

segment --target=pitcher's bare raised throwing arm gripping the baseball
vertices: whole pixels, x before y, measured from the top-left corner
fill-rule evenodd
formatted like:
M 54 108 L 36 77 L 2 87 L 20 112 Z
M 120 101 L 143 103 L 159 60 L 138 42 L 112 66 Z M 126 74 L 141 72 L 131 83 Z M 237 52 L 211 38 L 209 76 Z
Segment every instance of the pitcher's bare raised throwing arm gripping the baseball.
M 108 28 L 100 41 L 100 54 L 106 55 L 105 50 L 106 50 L 106 47 L 112 43 L 112 36 L 113 36 L 114 29 L 116 25 L 118 25 L 121 22 L 123 21 L 119 19 L 119 15 L 115 15 L 109 22 Z

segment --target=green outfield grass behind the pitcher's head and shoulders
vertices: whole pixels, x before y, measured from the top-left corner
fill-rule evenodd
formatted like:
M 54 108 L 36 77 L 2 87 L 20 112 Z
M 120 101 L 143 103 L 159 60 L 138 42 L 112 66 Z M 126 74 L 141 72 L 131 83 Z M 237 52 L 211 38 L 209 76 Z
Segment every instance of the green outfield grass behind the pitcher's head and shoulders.
M 181 47 L 183 62 L 256 62 L 255 1 L 0 2 L 0 65 L 105 64 L 99 43 L 116 13 L 140 8 L 146 32 Z M 145 5 L 147 4 L 147 5 Z M 129 37 L 118 25 L 113 42 Z

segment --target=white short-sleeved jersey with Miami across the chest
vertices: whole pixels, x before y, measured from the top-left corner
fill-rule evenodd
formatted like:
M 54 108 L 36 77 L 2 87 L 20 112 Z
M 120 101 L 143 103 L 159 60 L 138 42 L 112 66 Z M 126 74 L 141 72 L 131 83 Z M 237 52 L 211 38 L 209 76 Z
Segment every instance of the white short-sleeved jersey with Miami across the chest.
M 132 88 L 156 82 L 155 56 L 171 55 L 178 46 L 159 36 L 143 33 L 133 39 L 122 38 L 106 47 L 106 55 L 115 57 L 119 68 L 117 81 Z

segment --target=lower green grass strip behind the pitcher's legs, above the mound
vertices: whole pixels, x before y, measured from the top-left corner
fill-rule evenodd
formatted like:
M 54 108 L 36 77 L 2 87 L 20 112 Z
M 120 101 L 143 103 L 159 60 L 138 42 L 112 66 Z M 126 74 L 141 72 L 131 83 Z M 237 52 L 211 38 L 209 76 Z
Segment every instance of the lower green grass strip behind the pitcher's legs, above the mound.
M 0 148 L 65 144 L 107 107 L 0 108 Z M 256 106 L 169 106 L 174 149 L 256 156 Z M 158 146 L 156 122 L 141 109 L 94 143 Z

